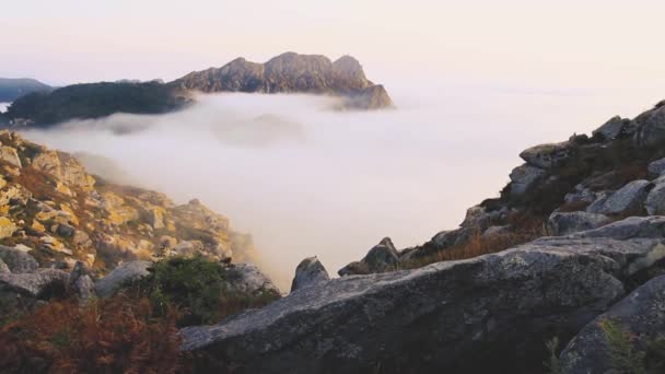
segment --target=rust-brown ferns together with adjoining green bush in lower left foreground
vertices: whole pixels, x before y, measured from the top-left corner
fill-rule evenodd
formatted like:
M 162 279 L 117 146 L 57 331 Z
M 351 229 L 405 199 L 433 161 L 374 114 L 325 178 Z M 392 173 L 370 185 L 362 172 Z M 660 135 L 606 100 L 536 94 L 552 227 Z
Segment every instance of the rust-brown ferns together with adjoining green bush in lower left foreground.
M 60 295 L 0 325 L 2 373 L 190 372 L 178 327 L 214 324 L 277 294 L 229 291 L 232 274 L 200 257 L 158 262 L 110 299 Z

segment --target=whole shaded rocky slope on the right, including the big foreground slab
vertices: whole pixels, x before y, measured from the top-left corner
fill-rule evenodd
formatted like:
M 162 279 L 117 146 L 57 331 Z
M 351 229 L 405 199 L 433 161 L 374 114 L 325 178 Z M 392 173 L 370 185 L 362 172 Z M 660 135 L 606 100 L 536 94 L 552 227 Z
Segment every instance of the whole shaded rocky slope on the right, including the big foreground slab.
M 525 150 L 500 198 L 421 246 L 386 237 L 332 280 L 303 260 L 290 295 L 183 349 L 203 372 L 662 372 L 664 104 Z

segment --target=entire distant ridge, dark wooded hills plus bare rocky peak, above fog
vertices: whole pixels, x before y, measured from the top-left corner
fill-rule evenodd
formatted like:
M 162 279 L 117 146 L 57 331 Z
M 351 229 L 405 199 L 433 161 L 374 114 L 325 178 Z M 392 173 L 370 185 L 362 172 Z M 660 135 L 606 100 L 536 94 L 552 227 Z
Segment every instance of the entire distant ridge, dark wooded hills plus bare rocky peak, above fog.
M 2 82 L 0 80 L 0 92 Z M 237 58 L 221 68 L 195 71 L 170 83 L 121 80 L 61 89 L 34 84 L 32 87 L 31 93 L 12 98 L 12 106 L 0 116 L 0 128 L 48 127 L 115 113 L 168 113 L 191 103 L 192 91 L 324 94 L 339 97 L 341 109 L 393 107 L 384 86 L 368 80 L 353 57 L 343 56 L 331 61 L 325 56 L 294 52 L 282 54 L 266 63 Z

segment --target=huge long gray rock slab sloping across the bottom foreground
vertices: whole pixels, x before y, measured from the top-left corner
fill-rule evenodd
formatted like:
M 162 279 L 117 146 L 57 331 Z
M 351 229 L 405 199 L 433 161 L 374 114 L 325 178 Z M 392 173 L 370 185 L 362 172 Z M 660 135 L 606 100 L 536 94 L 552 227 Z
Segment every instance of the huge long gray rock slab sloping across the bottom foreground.
M 579 245 L 588 250 L 578 254 Z M 524 246 L 334 279 L 221 325 L 185 328 L 183 349 L 238 373 L 365 373 L 377 362 L 386 373 L 515 372 L 517 363 L 534 372 L 542 355 L 533 350 L 548 331 L 576 331 L 623 293 L 611 260 L 592 247 Z

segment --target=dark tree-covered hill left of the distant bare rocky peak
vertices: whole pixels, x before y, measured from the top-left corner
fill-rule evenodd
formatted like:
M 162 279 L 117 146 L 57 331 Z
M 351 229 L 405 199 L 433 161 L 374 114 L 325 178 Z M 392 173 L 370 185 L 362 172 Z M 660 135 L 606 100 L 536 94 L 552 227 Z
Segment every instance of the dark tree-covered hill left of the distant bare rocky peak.
M 48 127 L 70 119 L 90 119 L 114 113 L 162 114 L 182 108 L 188 100 L 174 87 L 158 83 L 89 83 L 52 92 L 35 92 L 8 109 L 11 119 Z

